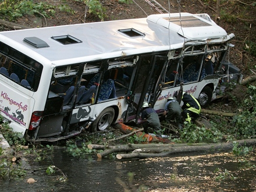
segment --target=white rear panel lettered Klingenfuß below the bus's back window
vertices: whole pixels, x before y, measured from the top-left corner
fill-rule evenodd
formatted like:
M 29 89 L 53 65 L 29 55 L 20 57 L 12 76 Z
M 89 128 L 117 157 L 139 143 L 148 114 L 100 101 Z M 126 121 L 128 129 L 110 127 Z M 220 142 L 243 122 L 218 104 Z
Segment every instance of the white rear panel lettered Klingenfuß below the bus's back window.
M 26 88 L 2 75 L 0 79 L 0 115 L 12 122 L 10 126 L 14 131 L 24 133 L 29 127 L 34 99 L 23 93 Z

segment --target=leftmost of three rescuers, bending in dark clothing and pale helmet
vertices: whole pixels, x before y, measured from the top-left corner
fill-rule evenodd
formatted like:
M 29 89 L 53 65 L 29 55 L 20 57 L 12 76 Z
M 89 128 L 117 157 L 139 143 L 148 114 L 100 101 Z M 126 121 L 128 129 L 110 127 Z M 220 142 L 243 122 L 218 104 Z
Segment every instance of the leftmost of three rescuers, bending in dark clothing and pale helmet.
M 148 102 L 143 103 L 141 119 L 145 120 L 143 123 L 145 133 L 148 133 L 148 127 L 152 127 L 157 134 L 161 134 L 161 123 L 158 114 L 155 109 L 148 106 Z

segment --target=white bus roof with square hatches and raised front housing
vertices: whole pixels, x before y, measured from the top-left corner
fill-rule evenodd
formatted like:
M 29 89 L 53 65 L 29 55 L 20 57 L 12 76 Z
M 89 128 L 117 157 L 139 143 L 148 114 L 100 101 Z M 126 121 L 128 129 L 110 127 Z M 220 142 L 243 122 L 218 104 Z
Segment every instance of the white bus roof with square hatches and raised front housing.
M 56 65 L 181 48 L 184 41 L 225 38 L 226 31 L 207 14 L 190 13 L 0 33 L 0 41 L 5 44 Z

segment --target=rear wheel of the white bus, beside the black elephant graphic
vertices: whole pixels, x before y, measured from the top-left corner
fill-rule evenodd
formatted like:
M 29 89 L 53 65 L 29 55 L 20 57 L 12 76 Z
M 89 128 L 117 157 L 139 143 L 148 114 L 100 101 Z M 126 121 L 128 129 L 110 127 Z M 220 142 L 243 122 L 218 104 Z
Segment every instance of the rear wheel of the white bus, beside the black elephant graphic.
M 111 125 L 115 116 L 115 110 L 111 107 L 104 109 L 98 118 L 93 122 L 91 131 L 97 132 L 105 130 Z

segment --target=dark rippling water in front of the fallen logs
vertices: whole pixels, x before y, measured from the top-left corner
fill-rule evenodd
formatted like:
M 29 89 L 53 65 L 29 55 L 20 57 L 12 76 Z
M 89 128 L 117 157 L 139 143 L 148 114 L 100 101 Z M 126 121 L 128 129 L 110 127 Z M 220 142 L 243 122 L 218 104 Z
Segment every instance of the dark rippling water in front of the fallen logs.
M 55 165 L 68 177 L 59 182 L 61 173 L 48 176 L 45 170 L 28 173 L 23 179 L 0 181 L 1 191 L 256 191 L 255 156 L 239 163 L 230 153 L 183 154 L 147 159 L 85 159 L 70 157 L 57 148 L 52 160 L 45 160 L 27 169 Z M 242 159 L 243 160 L 243 159 Z M 215 170 L 220 171 L 214 173 Z M 225 172 L 226 169 L 226 172 Z M 133 173 L 131 179 L 129 173 Z M 216 177 L 226 173 L 226 180 Z M 227 177 L 229 176 L 229 179 Z M 33 177 L 34 184 L 26 183 Z M 234 180 L 233 177 L 236 177 Z M 140 190 L 139 190 L 140 189 Z

